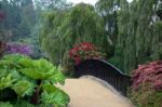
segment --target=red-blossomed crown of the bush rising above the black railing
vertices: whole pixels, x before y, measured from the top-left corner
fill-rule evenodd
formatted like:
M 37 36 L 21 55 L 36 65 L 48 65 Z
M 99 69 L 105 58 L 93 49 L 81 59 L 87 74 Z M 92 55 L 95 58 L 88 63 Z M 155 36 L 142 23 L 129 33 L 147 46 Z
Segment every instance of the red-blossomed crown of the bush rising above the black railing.
M 84 59 L 100 59 L 103 56 L 102 52 L 99 52 L 94 44 L 89 42 L 77 44 L 69 51 L 69 57 L 76 65 L 80 64 Z

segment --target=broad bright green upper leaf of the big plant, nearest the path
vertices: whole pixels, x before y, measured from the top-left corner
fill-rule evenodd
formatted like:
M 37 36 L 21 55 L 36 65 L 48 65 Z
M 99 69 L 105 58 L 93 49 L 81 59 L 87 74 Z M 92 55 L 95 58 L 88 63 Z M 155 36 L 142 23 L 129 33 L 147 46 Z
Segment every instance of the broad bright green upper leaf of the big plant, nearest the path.
M 26 66 L 19 71 L 31 79 L 50 80 L 53 83 L 59 82 L 62 84 L 65 81 L 64 75 L 46 59 L 33 61 L 32 66 Z

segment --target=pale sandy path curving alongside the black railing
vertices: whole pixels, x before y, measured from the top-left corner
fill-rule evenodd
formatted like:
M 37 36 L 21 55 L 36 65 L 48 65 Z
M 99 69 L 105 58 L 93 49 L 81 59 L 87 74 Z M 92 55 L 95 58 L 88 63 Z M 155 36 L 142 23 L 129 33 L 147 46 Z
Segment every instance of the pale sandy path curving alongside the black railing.
M 93 77 L 67 79 L 60 89 L 70 96 L 68 107 L 133 107 L 112 86 Z

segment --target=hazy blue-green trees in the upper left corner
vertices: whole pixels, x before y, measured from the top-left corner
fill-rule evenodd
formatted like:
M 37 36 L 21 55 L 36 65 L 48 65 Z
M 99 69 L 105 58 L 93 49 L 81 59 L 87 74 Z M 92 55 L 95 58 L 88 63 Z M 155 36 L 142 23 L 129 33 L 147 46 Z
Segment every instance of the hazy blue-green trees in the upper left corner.
M 0 30 L 4 31 L 3 37 L 14 41 L 30 37 L 31 29 L 36 24 L 32 0 L 1 0 L 0 3 L 1 10 L 6 15 L 0 25 Z

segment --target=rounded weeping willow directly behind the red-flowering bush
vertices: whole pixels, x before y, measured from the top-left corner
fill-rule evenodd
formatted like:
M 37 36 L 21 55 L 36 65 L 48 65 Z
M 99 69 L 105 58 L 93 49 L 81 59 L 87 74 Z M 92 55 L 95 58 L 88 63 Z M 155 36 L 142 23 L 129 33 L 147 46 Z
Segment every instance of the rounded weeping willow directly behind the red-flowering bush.
M 53 63 L 65 61 L 76 43 L 92 42 L 106 51 L 104 21 L 92 5 L 80 3 L 66 11 L 50 12 L 44 19 L 41 45 Z

